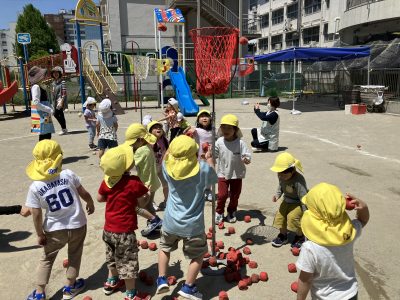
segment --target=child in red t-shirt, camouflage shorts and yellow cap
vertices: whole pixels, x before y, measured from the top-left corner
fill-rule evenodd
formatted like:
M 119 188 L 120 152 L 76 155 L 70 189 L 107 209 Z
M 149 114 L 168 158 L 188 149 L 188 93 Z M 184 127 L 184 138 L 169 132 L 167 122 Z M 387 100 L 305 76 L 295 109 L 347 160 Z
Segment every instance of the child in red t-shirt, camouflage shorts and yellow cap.
M 125 300 L 137 299 L 136 207 L 148 198 L 148 189 L 139 177 L 129 175 L 133 166 L 133 152 L 129 146 L 121 145 L 107 151 L 100 161 L 104 180 L 97 195 L 97 201 L 106 202 L 103 241 L 106 244 L 108 279 L 103 291 L 111 295 L 125 284 Z

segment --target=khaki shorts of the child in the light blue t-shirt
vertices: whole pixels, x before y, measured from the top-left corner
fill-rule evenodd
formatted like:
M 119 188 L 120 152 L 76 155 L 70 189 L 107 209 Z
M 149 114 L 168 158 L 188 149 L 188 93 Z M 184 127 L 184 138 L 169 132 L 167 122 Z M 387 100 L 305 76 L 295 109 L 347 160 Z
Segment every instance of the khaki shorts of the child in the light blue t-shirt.
M 161 229 L 160 249 L 162 251 L 168 253 L 175 251 L 178 249 L 178 242 L 180 240 L 183 241 L 182 250 L 187 259 L 198 258 L 208 251 L 205 233 L 187 238 L 165 232 Z

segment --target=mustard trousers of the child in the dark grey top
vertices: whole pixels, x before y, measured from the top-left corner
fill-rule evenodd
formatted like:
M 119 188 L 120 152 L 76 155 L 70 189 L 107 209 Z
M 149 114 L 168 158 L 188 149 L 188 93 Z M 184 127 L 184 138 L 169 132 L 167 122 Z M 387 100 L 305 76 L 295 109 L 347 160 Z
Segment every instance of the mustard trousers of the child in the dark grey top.
M 297 235 L 302 235 L 300 226 L 302 216 L 303 210 L 300 203 L 291 204 L 282 201 L 279 210 L 276 212 L 273 226 L 278 229 L 286 228 Z

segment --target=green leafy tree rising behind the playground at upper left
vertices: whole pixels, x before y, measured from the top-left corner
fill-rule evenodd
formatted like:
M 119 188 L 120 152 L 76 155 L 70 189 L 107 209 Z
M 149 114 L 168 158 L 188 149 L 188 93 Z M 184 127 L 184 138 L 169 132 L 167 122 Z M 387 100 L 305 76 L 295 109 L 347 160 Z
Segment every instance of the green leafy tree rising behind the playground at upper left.
M 46 20 L 32 4 L 24 6 L 24 11 L 18 16 L 15 32 L 28 32 L 31 34 L 31 43 L 28 45 L 30 57 L 49 55 L 49 49 L 54 53 L 60 52 L 54 29 L 47 25 Z M 24 56 L 22 45 L 17 43 L 17 55 Z

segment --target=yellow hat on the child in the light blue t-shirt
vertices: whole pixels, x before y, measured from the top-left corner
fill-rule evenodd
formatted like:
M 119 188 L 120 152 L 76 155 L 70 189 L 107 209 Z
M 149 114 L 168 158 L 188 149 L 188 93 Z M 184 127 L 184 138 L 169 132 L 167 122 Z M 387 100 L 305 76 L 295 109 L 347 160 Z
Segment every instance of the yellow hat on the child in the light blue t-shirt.
M 165 158 L 168 175 L 175 180 L 183 180 L 199 173 L 198 150 L 199 146 L 194 139 L 186 135 L 174 138 Z

